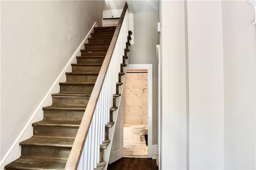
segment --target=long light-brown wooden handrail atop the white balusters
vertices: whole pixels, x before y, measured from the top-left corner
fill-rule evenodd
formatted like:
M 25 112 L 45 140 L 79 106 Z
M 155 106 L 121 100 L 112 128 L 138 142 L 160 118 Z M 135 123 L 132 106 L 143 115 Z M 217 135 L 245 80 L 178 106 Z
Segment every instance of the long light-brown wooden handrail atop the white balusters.
M 124 20 L 124 16 L 126 13 L 128 6 L 127 3 L 124 5 L 124 9 L 122 11 L 122 14 L 120 16 L 120 19 L 118 21 L 118 24 L 116 26 L 116 30 L 114 32 L 114 36 L 110 42 L 110 45 L 108 47 L 108 51 L 106 53 L 106 57 L 102 63 L 102 67 L 100 69 L 99 75 L 96 79 L 96 83 L 94 85 L 94 88 L 92 90 L 91 97 L 88 101 L 86 110 L 84 112 L 84 116 L 82 118 L 80 127 L 78 129 L 78 132 L 76 134 L 76 138 L 74 140 L 74 144 L 72 146 L 70 155 L 68 157 L 68 161 L 65 167 L 65 170 L 76 170 L 80 161 L 80 157 L 84 148 L 84 143 L 90 128 L 90 124 L 92 122 L 92 117 L 97 105 L 98 98 L 100 96 L 100 91 L 102 89 L 102 85 L 104 83 L 104 79 L 106 77 L 106 73 L 108 70 L 108 66 L 112 57 L 112 54 L 114 52 L 114 48 L 116 45 L 116 41 L 119 35 L 119 32 L 121 30 L 121 26 Z

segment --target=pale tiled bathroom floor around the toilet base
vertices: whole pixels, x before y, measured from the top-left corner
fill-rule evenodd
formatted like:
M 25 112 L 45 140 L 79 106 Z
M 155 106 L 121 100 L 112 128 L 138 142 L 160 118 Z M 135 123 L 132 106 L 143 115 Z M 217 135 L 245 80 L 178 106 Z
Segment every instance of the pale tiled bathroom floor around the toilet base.
M 124 139 L 124 156 L 148 156 L 146 143 L 134 143 L 133 139 Z

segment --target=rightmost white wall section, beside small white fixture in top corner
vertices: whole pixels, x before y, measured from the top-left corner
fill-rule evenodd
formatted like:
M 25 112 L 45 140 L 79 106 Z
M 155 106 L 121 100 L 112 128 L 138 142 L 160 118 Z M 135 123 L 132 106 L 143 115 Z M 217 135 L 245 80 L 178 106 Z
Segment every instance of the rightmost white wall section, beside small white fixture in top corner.
M 255 169 L 255 26 L 246 1 L 222 2 L 224 168 Z

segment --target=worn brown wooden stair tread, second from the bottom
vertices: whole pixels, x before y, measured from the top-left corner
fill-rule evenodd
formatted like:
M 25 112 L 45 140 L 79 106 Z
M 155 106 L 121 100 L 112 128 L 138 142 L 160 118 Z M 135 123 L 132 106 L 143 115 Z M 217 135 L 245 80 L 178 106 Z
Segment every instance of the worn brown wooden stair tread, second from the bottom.
M 54 146 L 72 148 L 74 138 L 52 138 L 52 137 L 36 137 L 20 142 L 20 145 L 34 145 L 34 146 Z

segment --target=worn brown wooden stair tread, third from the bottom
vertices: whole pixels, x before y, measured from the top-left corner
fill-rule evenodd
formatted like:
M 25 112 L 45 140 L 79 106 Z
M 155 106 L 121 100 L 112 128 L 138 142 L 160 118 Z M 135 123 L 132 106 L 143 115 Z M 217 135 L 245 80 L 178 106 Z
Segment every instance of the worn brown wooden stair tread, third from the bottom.
M 42 120 L 32 123 L 32 126 L 48 126 L 48 127 L 79 127 L 81 121 L 62 121 L 62 120 Z

